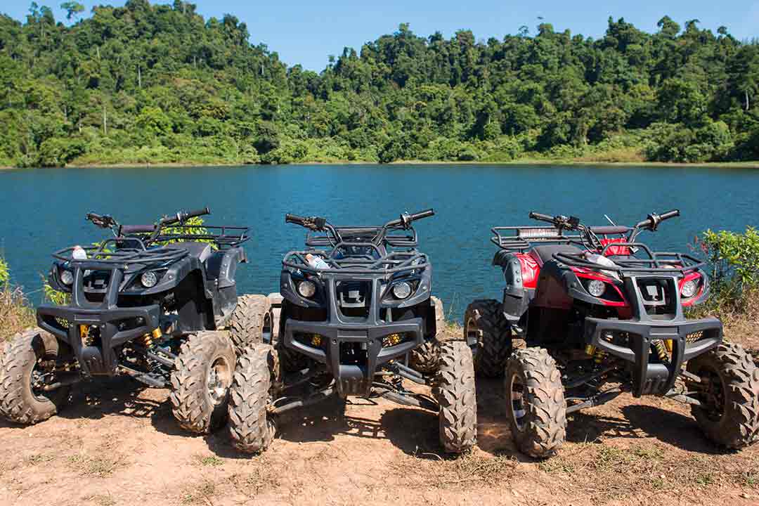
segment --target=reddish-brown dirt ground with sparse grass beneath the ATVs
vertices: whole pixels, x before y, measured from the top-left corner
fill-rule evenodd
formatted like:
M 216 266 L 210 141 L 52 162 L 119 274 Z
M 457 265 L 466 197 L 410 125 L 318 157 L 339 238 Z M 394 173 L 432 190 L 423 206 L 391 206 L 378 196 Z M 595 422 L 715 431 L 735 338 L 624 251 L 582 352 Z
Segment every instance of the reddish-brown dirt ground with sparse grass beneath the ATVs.
M 622 395 L 569 416 L 556 457 L 518 454 L 502 385 L 477 384 L 479 448 L 449 459 L 436 414 L 357 400 L 287 413 L 265 454 L 187 435 L 167 391 L 85 384 L 32 427 L 0 423 L 0 504 L 759 504 L 759 445 L 715 448 L 688 407 Z

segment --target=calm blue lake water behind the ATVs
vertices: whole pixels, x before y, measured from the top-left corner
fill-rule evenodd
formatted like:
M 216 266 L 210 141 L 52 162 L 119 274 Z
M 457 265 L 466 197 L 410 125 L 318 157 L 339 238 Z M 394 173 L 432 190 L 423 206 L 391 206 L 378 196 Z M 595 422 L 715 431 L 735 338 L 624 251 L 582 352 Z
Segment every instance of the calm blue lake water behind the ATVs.
M 250 262 L 238 270 L 241 293 L 275 291 L 282 256 L 304 229 L 285 212 L 324 215 L 338 225 L 381 225 L 403 211 L 433 207 L 417 222 L 420 249 L 433 262 L 433 292 L 461 318 L 469 300 L 500 297 L 490 266 L 490 227 L 537 225 L 531 210 L 577 215 L 592 225 L 633 224 L 652 211 L 681 218 L 644 234 L 655 247 L 687 249 L 707 228 L 759 225 L 759 171 L 490 165 L 282 165 L 196 168 L 20 169 L 0 171 L 0 254 L 12 280 L 39 300 L 50 253 L 101 240 L 86 212 L 151 223 L 180 209 L 209 206 L 209 225 L 249 225 Z M 449 310 L 450 308 L 450 310 Z

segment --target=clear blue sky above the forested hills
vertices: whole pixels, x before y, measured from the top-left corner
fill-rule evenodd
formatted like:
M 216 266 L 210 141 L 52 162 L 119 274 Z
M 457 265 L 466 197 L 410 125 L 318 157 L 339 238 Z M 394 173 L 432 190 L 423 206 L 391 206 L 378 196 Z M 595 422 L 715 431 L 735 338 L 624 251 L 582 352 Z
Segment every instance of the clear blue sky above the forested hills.
M 65 20 L 58 7 L 64 1 L 37 0 L 37 3 L 49 5 L 58 20 Z M 87 8 L 87 15 L 93 5 L 124 5 L 124 0 L 79 1 Z M 315 71 L 323 70 L 327 55 L 339 55 L 345 46 L 361 49 L 364 42 L 395 32 L 401 23 L 411 24 L 411 30 L 421 36 L 439 30 L 449 37 L 456 30 L 468 29 L 478 40 L 487 40 L 516 33 L 522 25 L 534 33 L 540 16 L 557 31 L 569 29 L 572 34 L 597 38 L 606 30 L 609 16 L 624 17 L 639 29 L 651 32 L 657 30 L 657 21 L 668 14 L 681 25 L 686 20 L 701 20 L 701 27 L 715 32 L 725 25 L 738 39 L 759 36 L 757 0 L 197 0 L 196 3 L 197 11 L 206 18 L 234 14 L 247 24 L 251 42 L 264 42 L 269 49 L 279 52 L 286 63 L 300 63 Z M 0 13 L 24 20 L 29 5 L 24 0 L 0 0 Z

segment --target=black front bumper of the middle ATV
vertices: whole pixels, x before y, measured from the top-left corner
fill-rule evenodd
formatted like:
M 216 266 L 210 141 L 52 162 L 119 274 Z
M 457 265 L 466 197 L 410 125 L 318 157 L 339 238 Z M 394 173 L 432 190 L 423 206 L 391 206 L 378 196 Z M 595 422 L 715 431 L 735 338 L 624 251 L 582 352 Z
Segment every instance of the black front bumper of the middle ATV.
M 378 325 L 288 319 L 284 342 L 285 347 L 326 364 L 339 394 L 366 396 L 378 366 L 424 344 L 424 319 Z

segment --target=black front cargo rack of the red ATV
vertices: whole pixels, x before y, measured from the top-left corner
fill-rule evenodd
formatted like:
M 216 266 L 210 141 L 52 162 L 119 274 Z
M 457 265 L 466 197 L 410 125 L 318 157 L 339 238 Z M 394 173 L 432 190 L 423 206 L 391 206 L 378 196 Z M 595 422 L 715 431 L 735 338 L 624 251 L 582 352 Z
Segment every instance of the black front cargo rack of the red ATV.
M 680 272 L 685 274 L 692 272 L 706 265 L 706 262 L 695 258 L 686 253 L 671 253 L 665 251 L 651 251 L 649 247 L 642 243 L 613 243 L 607 244 L 599 253 L 606 256 L 606 251 L 610 247 L 628 247 L 631 250 L 642 250 L 648 255 L 648 258 L 639 259 L 633 257 L 620 258 L 613 256 L 613 262 L 616 266 L 600 266 L 595 262 L 590 262 L 584 257 L 584 253 L 554 253 L 553 258 L 568 266 L 582 267 L 585 269 L 603 269 L 613 272 L 631 272 L 631 273 L 657 273 L 672 274 Z

